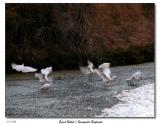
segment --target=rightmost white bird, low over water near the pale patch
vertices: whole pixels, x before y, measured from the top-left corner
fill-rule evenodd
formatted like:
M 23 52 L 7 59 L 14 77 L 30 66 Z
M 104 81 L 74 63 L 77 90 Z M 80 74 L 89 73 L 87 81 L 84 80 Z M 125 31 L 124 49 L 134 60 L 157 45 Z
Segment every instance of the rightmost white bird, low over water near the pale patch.
M 128 79 L 126 79 L 126 81 L 129 85 L 136 85 L 136 81 L 139 81 L 140 79 L 142 79 L 142 72 L 137 71 L 133 73 Z

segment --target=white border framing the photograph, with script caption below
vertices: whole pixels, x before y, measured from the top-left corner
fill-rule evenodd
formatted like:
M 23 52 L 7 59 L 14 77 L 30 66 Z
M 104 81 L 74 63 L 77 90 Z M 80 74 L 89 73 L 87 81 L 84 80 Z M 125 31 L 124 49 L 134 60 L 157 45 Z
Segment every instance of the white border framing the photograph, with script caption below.
M 104 118 L 104 119 L 82 119 L 82 120 L 103 120 L 103 124 L 106 123 L 123 123 L 123 124 L 135 124 L 135 123 L 158 123 L 159 117 L 159 105 L 160 105 L 160 2 L 159 0 L 0 0 L 0 123 L 14 123 L 16 121 L 17 124 L 32 124 L 32 123 L 39 123 L 44 124 L 59 124 L 59 120 L 80 120 L 74 118 L 60 118 L 60 119 L 7 119 L 5 118 L 5 3 L 155 3 L 156 4 L 156 119 L 133 119 L 133 118 Z

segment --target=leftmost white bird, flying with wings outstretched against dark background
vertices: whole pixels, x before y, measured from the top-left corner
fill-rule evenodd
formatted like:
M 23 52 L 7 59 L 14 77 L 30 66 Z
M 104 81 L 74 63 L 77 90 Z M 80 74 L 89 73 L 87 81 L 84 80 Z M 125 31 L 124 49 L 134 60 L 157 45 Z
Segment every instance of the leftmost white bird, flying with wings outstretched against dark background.
M 24 72 L 24 73 L 37 71 L 36 68 L 32 68 L 32 67 L 29 67 L 29 66 L 24 66 L 24 64 L 22 64 L 22 65 L 17 65 L 17 64 L 15 64 L 15 63 L 12 63 L 12 64 L 11 64 L 11 67 L 12 67 L 12 69 L 14 69 L 14 70 L 16 70 L 16 71 Z

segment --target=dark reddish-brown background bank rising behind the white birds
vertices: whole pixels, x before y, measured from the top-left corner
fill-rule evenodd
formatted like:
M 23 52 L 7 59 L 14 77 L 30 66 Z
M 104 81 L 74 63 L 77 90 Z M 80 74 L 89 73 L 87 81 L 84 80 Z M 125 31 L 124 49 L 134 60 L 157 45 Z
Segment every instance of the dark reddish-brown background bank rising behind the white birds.
M 121 64 L 153 61 L 154 4 L 6 4 L 8 68 L 24 62 L 71 69 L 88 58 L 118 65 L 117 57 Z

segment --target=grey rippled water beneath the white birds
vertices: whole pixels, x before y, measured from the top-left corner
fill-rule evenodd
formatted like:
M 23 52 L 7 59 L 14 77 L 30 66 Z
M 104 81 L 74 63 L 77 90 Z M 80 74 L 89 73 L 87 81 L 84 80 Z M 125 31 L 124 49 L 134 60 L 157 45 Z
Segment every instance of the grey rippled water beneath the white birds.
M 41 84 L 34 74 L 6 75 L 5 113 L 10 118 L 94 117 L 104 108 L 119 103 L 114 97 L 123 90 L 154 83 L 154 63 L 111 68 L 118 79 L 105 84 L 97 75 L 82 75 L 79 71 L 54 72 L 53 86 L 39 90 Z M 141 70 L 144 79 L 138 86 L 125 81 L 133 72 Z

